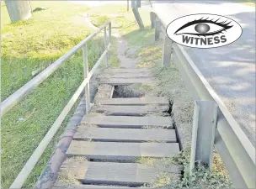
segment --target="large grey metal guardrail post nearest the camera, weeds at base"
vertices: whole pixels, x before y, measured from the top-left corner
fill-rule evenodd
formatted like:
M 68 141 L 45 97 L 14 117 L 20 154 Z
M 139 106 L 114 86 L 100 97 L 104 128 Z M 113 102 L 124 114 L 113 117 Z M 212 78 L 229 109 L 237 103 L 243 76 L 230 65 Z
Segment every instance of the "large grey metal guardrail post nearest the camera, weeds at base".
M 218 106 L 214 101 L 195 101 L 189 175 L 195 162 L 211 170 Z

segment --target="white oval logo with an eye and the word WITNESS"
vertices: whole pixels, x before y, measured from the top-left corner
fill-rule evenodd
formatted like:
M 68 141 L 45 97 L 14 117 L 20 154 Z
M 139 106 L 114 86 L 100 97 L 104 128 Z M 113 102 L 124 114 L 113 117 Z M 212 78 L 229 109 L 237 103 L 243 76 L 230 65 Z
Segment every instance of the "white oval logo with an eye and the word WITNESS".
M 180 45 L 214 48 L 237 40 L 242 28 L 231 18 L 200 13 L 175 19 L 168 25 L 167 34 Z

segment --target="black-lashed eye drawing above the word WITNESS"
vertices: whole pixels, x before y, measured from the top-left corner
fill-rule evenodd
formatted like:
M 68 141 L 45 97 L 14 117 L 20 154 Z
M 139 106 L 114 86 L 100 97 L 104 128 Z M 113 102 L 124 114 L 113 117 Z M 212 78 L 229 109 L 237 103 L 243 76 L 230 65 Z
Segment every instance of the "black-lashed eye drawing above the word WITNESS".
M 209 36 L 221 34 L 223 31 L 232 28 L 231 23 L 226 21 L 218 22 L 220 18 L 213 19 L 200 18 L 181 26 L 174 34 L 194 34 L 198 36 Z M 195 32 L 194 32 L 195 31 Z

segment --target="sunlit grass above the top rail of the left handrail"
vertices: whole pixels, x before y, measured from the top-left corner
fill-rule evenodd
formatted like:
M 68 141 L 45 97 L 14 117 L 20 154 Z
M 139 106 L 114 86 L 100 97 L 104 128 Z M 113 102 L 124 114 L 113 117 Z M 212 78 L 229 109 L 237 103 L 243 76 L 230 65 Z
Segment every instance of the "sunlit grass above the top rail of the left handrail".
M 40 6 L 48 9 L 33 13 L 27 21 L 3 25 L 2 100 L 29 81 L 32 71 L 43 70 L 91 32 L 79 16 L 88 8 L 66 2 L 32 2 L 32 7 Z

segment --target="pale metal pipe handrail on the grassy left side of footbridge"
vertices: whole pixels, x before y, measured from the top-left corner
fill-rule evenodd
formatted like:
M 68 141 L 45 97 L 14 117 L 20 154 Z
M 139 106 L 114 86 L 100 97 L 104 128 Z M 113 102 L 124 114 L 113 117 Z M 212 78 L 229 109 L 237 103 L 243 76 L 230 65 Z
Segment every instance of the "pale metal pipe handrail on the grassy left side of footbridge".
M 109 34 L 107 34 L 107 27 L 109 26 Z M 93 69 L 88 72 L 88 52 L 87 52 L 87 43 L 90 39 L 92 39 L 96 34 L 99 34 L 104 29 L 104 52 L 99 57 L 99 60 L 96 62 L 96 64 L 93 66 Z M 74 55 L 77 50 L 83 49 L 83 74 L 84 74 L 84 80 L 82 84 L 77 88 L 77 91 L 73 94 L 72 98 L 67 102 L 67 105 L 65 108 L 63 108 L 61 114 L 56 118 L 55 123 L 51 126 L 51 129 L 45 134 L 44 139 L 41 140 L 38 147 L 35 149 L 33 155 L 30 156 L 29 160 L 24 165 L 22 171 L 19 172 L 19 175 L 16 177 L 16 179 L 13 181 L 13 184 L 10 186 L 10 188 L 21 188 L 24 185 L 24 181 L 28 178 L 30 172 L 35 167 L 35 164 L 40 159 L 40 156 L 44 153 L 47 145 L 51 142 L 51 139 L 56 134 L 57 130 L 60 128 L 61 123 L 64 121 L 64 119 L 67 116 L 67 113 L 70 112 L 75 102 L 77 102 L 77 98 L 81 95 L 83 90 L 85 90 L 85 101 L 86 101 L 86 113 L 88 113 L 88 110 L 90 109 L 90 97 L 89 97 L 89 81 L 90 78 L 93 76 L 93 73 L 96 71 L 96 69 L 101 64 L 102 60 L 105 59 L 106 66 L 108 66 L 108 51 L 109 46 L 111 42 L 111 22 L 108 21 L 105 24 L 103 24 L 99 29 L 97 29 L 93 34 L 90 34 L 86 39 L 83 39 L 78 45 L 74 46 L 72 50 L 68 51 L 65 55 L 62 55 L 61 58 L 56 60 L 51 66 L 48 66 L 44 71 L 42 71 L 38 76 L 35 76 L 32 80 L 27 82 L 23 87 L 19 88 L 18 91 L 14 92 L 10 97 L 8 97 L 6 100 L 4 100 L 1 103 L 1 116 L 3 116 L 4 113 L 7 113 L 8 110 L 13 108 L 18 102 L 20 102 L 24 97 L 26 97 L 30 92 L 32 92 L 35 87 L 38 87 L 41 82 L 45 81 L 45 79 L 48 76 L 51 76 L 51 74 L 56 71 L 57 68 L 59 68 L 65 60 L 67 60 L 69 57 Z

